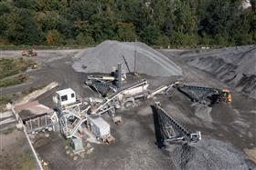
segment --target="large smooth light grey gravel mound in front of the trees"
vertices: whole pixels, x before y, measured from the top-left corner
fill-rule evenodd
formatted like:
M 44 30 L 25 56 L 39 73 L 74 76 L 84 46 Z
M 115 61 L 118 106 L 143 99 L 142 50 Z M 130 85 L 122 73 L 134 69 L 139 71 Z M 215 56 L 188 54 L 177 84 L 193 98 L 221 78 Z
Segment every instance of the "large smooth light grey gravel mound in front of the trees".
M 75 55 L 77 61 L 72 65 L 77 72 L 110 73 L 112 67 L 123 64 L 123 70 L 128 72 L 123 56 L 131 72 L 134 71 L 134 42 L 104 41 L 94 48 L 84 50 Z M 182 69 L 165 55 L 155 51 L 143 43 L 136 43 L 136 72 L 152 76 L 183 75 Z

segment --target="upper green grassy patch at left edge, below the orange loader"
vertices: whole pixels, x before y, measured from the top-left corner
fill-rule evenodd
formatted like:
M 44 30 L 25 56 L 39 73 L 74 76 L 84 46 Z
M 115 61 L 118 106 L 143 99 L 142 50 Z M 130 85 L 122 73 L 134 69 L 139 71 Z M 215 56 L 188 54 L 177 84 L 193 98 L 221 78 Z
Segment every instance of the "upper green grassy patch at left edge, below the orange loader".
M 36 63 L 27 58 L 2 58 L 0 59 L 0 79 L 25 72 L 33 65 Z

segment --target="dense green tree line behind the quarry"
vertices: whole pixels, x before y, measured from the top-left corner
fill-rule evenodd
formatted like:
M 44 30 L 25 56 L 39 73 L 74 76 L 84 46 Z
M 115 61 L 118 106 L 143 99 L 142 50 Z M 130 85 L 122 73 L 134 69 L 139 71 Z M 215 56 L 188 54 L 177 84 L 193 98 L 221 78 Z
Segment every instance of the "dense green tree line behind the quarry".
M 256 0 L 2 0 L 0 45 L 256 44 Z

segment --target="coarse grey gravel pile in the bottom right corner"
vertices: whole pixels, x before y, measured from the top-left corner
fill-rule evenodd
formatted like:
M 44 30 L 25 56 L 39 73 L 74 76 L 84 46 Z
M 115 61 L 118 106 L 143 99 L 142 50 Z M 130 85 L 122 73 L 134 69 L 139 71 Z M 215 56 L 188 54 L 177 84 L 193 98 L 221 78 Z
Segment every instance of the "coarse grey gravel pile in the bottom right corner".
M 238 169 L 256 168 L 248 157 L 232 145 L 215 139 L 203 139 L 194 145 L 171 145 L 169 155 L 176 169 Z

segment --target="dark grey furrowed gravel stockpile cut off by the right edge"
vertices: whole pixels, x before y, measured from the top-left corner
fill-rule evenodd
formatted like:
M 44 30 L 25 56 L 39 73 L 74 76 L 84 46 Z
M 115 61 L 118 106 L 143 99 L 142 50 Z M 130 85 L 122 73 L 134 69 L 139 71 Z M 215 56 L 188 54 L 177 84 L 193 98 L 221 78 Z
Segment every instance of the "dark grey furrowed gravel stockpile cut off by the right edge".
M 256 98 L 256 45 L 210 50 L 188 57 L 187 63 Z

